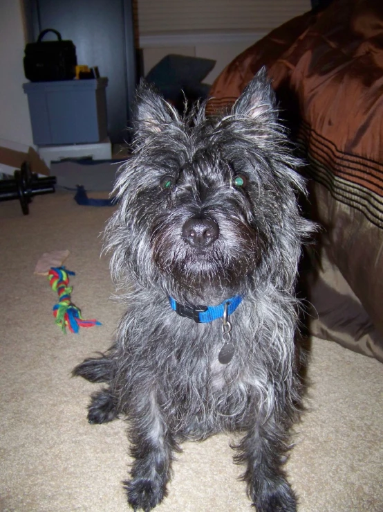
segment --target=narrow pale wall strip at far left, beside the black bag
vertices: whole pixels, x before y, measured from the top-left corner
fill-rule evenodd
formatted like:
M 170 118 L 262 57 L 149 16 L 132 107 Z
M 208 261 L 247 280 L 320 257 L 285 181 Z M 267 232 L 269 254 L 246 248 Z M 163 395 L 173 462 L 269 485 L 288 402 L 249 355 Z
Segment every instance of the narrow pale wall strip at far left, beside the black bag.
M 32 145 L 28 101 L 22 85 L 25 47 L 20 0 L 0 0 L 0 139 Z

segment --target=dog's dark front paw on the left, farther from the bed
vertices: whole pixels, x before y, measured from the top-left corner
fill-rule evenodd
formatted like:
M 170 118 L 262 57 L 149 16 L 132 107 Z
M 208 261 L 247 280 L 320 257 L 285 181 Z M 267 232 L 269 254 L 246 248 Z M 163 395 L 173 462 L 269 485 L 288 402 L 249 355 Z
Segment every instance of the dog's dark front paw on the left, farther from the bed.
M 135 511 L 142 509 L 144 512 L 149 512 L 162 502 L 165 496 L 165 486 L 147 478 L 136 478 L 130 482 L 124 482 L 124 488 L 127 490 L 128 503 Z

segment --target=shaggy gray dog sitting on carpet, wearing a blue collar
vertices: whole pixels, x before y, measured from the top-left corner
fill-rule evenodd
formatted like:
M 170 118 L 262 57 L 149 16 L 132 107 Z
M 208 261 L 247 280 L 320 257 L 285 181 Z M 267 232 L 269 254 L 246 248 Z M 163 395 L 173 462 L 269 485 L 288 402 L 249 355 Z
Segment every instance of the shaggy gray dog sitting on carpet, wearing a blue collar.
M 234 460 L 258 512 L 296 511 L 283 472 L 297 416 L 297 300 L 310 224 L 303 181 L 261 70 L 230 112 L 180 116 L 140 85 L 133 156 L 106 229 L 126 313 L 115 344 L 73 373 L 106 382 L 90 423 L 128 420 L 135 511 L 167 494 L 185 439 L 240 430 Z

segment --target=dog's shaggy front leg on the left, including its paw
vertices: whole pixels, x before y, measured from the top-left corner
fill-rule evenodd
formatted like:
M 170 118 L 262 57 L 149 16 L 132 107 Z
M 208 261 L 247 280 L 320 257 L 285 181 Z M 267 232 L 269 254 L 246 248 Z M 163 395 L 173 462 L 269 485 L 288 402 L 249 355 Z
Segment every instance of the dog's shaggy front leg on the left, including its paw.
M 135 511 L 149 512 L 166 496 L 171 450 L 179 450 L 167 429 L 155 393 L 142 391 L 140 403 L 131 412 L 131 479 L 124 482 L 128 502 Z

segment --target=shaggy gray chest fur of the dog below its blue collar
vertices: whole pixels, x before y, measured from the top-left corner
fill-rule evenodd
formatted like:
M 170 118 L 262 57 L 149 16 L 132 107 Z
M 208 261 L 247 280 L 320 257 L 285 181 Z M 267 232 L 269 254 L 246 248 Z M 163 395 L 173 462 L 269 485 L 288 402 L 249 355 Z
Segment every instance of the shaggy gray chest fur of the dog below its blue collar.
M 267 324 L 259 323 L 259 308 L 265 309 L 265 319 L 272 311 L 268 311 L 267 301 L 262 303 L 259 301 L 256 312 L 245 300 L 230 317 L 234 344 L 230 364 L 218 361 L 225 343 L 221 319 L 196 324 L 178 316 L 166 300 L 149 311 L 132 305 L 119 328 L 124 341 L 118 344 L 117 360 L 122 364 L 115 383 L 119 387 L 121 382 L 127 383 L 124 393 L 120 390 L 120 408 L 129 412 L 131 400 L 133 409 L 137 407 L 140 387 L 143 395 L 155 392 L 153 400 L 160 403 L 167 422 L 180 436 L 206 436 L 207 432 L 235 430 L 239 423 L 254 421 L 272 387 L 265 359 L 272 357 L 273 347 L 270 345 L 269 353 L 260 348 L 261 337 L 270 332 Z

